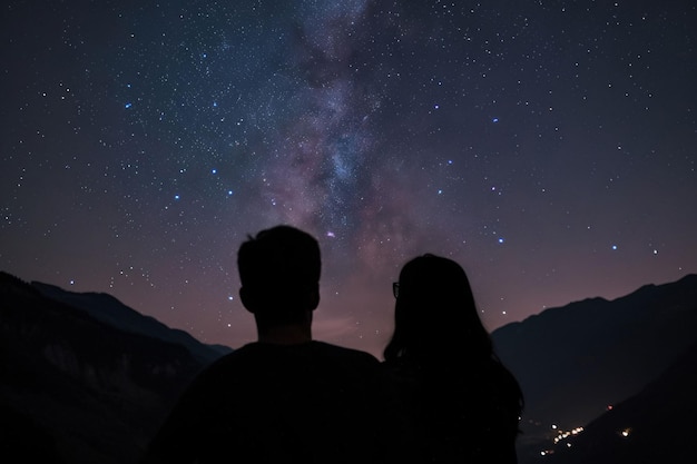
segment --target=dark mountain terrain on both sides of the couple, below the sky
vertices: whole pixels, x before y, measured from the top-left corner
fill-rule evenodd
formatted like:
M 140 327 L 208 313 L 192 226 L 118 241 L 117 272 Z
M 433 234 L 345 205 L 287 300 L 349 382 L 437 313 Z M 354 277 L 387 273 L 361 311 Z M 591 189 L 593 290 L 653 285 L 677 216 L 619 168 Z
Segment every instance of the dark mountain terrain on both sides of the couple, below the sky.
M 492 336 L 526 395 L 521 464 L 694 462 L 697 276 L 548 309 Z M 109 295 L 0 273 L 0 452 L 135 463 L 184 387 L 228 351 Z

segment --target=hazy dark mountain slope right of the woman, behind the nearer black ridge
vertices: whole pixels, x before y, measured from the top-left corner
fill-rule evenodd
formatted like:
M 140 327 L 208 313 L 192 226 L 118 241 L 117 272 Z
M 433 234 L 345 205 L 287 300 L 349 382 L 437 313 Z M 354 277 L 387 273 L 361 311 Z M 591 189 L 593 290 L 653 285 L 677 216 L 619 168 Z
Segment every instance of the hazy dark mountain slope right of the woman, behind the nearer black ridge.
M 520 462 L 538 462 L 559 431 L 637 394 L 697 342 L 697 275 L 547 309 L 492 338 L 526 395 Z

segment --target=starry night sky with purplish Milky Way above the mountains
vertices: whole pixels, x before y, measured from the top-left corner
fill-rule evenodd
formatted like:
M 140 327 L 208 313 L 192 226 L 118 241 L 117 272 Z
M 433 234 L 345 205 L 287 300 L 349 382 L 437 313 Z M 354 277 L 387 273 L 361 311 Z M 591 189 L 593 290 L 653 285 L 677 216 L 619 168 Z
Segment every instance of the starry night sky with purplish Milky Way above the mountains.
M 697 272 L 697 6 L 9 1 L 0 268 L 255 339 L 236 251 L 321 243 L 315 337 L 377 356 L 434 253 L 493 330 Z

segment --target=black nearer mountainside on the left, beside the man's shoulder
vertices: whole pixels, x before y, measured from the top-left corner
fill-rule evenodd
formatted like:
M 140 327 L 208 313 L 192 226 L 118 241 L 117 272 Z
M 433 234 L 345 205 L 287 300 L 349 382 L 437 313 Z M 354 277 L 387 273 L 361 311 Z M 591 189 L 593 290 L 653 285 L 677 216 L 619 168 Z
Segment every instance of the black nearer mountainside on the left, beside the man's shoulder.
M 193 347 L 178 332 L 169 338 L 184 343 L 165 340 L 159 328 L 158 336 L 126 330 L 129 324 L 115 310 L 120 304 L 110 297 L 85 296 L 84 306 L 108 303 L 109 317 L 99 318 L 43 290 L 0 273 L 0 426 L 11 431 L 2 455 L 136 462 L 184 387 L 218 351 Z M 124 307 L 124 319 L 132 323 L 130 312 Z

